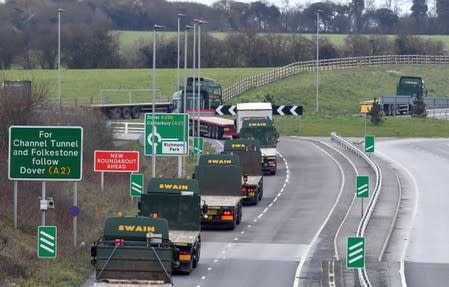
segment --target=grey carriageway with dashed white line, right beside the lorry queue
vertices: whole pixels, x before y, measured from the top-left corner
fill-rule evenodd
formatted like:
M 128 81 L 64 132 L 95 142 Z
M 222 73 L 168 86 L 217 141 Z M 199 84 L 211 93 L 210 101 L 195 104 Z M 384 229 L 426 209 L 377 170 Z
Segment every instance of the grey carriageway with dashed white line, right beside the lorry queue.
M 246 206 L 234 231 L 202 232 L 198 268 L 176 286 L 293 286 L 301 256 L 325 220 L 341 177 L 335 163 L 307 140 L 282 138 L 276 176 L 264 198 Z M 281 192 L 282 191 L 282 192 Z

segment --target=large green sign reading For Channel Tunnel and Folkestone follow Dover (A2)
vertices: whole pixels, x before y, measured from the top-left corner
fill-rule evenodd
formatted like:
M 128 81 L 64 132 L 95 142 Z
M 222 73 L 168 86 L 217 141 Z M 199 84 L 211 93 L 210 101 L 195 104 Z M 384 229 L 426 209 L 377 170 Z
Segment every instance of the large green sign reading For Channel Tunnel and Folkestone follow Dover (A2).
M 8 162 L 10 180 L 79 181 L 83 128 L 11 126 Z

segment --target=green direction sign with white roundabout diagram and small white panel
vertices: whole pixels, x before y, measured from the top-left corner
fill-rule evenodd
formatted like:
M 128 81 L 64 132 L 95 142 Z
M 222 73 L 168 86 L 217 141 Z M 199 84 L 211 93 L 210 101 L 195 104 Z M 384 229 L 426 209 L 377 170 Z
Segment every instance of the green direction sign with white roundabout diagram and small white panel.
M 145 155 L 179 156 L 188 154 L 189 116 L 188 114 L 154 114 L 154 136 L 152 114 L 145 114 Z M 154 139 L 154 141 L 153 141 Z

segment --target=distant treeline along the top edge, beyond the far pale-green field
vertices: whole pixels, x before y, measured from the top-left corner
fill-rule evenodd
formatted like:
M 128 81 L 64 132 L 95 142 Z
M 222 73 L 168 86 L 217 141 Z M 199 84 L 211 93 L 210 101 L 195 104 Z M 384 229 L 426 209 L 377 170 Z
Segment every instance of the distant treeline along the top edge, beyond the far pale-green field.
M 106 21 L 115 30 L 148 31 L 158 24 L 175 31 L 177 15 L 182 13 L 183 23 L 203 19 L 210 31 L 223 32 L 311 33 L 319 26 L 322 32 L 342 34 L 449 33 L 449 0 L 436 0 L 432 11 L 426 0 L 411 0 L 409 11 L 391 0 L 380 8 L 374 6 L 375 1 L 368 0 L 351 0 L 346 4 L 321 1 L 293 5 L 292 2 L 284 0 L 278 7 L 266 0 L 252 3 L 217 0 L 210 6 L 166 0 L 6 0 L 0 4 L 0 23 L 19 31 L 55 25 L 57 10 L 62 8 L 64 23 L 90 25 Z

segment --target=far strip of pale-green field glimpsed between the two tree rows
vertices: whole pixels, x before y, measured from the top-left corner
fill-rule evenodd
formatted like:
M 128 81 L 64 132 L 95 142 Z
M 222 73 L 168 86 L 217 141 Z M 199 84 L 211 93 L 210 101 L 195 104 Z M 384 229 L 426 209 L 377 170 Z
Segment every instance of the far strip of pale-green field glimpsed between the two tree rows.
M 132 48 L 139 43 L 151 43 L 153 39 L 152 31 L 113 31 L 113 35 L 119 39 L 120 47 L 122 49 Z M 226 32 L 211 32 L 210 35 L 223 40 L 226 37 Z M 184 31 L 182 31 L 184 35 Z M 309 38 L 315 37 L 315 34 L 303 34 Z M 177 32 L 158 32 L 158 41 L 167 41 L 170 39 L 176 39 Z M 345 44 L 345 34 L 320 34 L 321 38 L 327 38 L 332 44 L 337 47 L 342 47 Z M 394 38 L 395 35 L 389 35 L 389 38 Z M 449 49 L 449 36 L 447 35 L 419 35 L 421 39 L 442 41 L 446 49 Z

